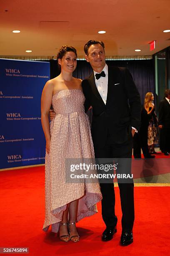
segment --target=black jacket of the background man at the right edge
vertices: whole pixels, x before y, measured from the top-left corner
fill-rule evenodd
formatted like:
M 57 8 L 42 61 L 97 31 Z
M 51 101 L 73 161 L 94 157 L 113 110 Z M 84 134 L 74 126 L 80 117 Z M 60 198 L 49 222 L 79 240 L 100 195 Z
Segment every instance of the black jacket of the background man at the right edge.
M 163 125 L 163 129 L 170 129 L 170 104 L 166 99 L 159 105 L 159 125 Z

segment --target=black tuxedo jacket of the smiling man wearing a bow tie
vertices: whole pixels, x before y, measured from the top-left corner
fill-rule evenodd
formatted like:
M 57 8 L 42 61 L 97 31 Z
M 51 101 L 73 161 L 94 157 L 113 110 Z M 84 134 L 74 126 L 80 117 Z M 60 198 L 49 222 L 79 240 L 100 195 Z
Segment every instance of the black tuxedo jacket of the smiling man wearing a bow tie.
M 140 95 L 127 68 L 108 67 L 106 105 L 95 84 L 94 72 L 82 81 L 85 112 L 92 106 L 92 139 L 94 146 L 106 141 L 122 144 L 131 138 L 132 126 L 139 130 Z

